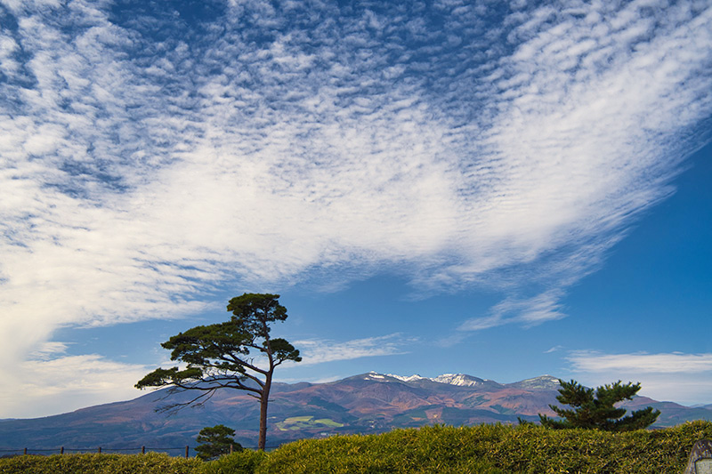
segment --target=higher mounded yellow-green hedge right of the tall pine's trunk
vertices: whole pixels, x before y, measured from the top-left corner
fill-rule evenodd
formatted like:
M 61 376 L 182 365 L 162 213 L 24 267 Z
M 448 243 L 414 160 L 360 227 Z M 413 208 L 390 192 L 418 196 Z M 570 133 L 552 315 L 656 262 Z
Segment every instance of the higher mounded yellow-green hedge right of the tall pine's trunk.
M 297 441 L 269 454 L 255 472 L 679 474 L 692 446 L 703 438 L 712 438 L 712 423 L 628 433 L 434 426 Z

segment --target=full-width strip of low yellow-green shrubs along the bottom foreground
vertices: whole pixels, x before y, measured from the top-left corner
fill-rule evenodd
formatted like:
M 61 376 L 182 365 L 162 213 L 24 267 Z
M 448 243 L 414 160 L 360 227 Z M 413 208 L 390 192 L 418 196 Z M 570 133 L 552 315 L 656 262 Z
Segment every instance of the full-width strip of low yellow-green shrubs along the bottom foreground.
M 305 439 L 211 462 L 166 454 L 70 454 L 0 460 L 0 473 L 675 473 L 712 422 L 611 433 L 540 426 L 429 426 L 382 435 Z

